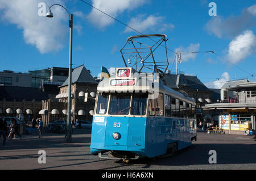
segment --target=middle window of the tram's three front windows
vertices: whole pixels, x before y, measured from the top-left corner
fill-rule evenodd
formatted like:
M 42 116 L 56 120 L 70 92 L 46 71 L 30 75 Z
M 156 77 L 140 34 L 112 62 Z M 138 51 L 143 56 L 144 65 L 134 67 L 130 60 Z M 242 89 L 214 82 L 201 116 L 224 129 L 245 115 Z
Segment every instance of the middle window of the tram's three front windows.
M 127 115 L 130 110 L 131 94 L 129 93 L 112 93 L 110 98 L 109 114 L 110 115 Z

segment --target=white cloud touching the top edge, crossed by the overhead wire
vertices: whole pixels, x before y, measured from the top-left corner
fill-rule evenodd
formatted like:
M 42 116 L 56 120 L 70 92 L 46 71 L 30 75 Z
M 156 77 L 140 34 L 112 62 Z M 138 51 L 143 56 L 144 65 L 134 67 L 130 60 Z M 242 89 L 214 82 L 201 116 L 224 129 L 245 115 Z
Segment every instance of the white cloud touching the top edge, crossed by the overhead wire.
M 143 5 L 145 2 L 146 0 L 92 0 L 92 5 L 115 18 L 123 11 L 137 8 L 138 6 Z M 114 22 L 112 18 L 94 8 L 92 11 L 90 11 L 87 18 L 91 23 L 100 29 L 103 29 Z

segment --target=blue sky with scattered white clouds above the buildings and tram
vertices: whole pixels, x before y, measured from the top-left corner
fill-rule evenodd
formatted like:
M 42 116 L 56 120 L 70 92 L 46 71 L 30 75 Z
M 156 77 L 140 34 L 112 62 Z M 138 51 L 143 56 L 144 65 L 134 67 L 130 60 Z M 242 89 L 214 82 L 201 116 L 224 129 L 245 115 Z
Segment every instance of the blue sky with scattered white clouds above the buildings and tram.
M 245 1 L 85 0 L 143 34 L 164 33 L 167 46 L 181 52 L 178 69 L 197 75 L 208 87 L 249 78 L 256 81 L 256 3 Z M 68 14 L 52 9 L 53 18 L 39 16 L 38 4 L 60 3 L 73 14 L 73 66 L 84 64 L 92 75 L 124 66 L 119 50 L 129 36 L 138 35 L 85 3 L 74 0 L 0 0 L 0 71 L 26 72 L 68 67 Z M 210 16 L 210 2 L 217 16 Z M 161 47 L 160 47 L 161 48 Z M 214 50 L 231 64 L 213 53 Z M 174 54 L 168 51 L 170 65 Z M 234 66 L 236 65 L 236 66 Z M 172 68 L 175 72 L 176 66 Z M 251 77 L 253 75 L 253 77 Z

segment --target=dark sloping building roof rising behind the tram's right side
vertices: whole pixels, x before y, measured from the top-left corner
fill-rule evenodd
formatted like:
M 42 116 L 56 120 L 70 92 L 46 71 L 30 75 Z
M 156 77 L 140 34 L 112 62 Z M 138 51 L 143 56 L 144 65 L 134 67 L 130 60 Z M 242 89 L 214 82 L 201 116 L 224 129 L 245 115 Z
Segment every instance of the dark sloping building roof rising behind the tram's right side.
M 172 89 L 178 89 L 180 86 L 187 86 L 190 90 L 210 91 L 196 76 L 184 74 L 166 74 L 163 77 L 166 85 Z

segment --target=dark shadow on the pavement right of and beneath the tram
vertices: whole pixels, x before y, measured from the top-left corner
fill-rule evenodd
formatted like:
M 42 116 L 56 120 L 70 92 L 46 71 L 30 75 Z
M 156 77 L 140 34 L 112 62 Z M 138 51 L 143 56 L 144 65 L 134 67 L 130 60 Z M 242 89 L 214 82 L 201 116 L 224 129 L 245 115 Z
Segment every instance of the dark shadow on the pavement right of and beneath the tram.
M 217 152 L 217 164 L 256 163 L 256 144 L 193 144 L 191 147 L 179 150 L 166 158 L 144 158 L 130 161 L 130 164 L 144 164 L 142 168 L 151 165 L 189 166 L 209 165 L 210 150 Z

